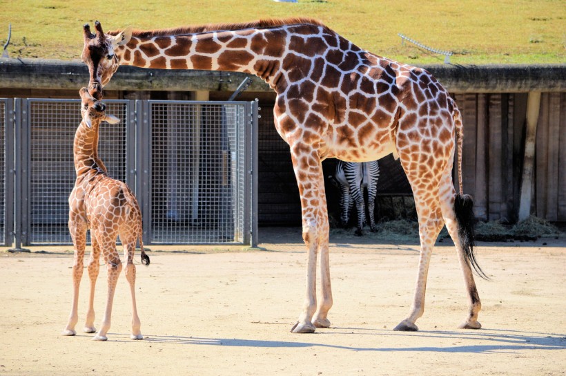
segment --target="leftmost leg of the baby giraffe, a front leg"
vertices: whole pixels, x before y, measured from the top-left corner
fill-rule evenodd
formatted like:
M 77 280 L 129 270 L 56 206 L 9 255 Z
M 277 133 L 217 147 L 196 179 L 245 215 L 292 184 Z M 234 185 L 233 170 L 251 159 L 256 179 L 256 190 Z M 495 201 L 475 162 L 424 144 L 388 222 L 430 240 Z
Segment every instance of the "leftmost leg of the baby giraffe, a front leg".
M 72 237 L 72 243 L 75 245 L 75 255 L 72 265 L 72 304 L 71 312 L 67 326 L 61 332 L 62 335 L 72 336 L 76 335 L 75 326 L 79 321 L 79 287 L 81 285 L 81 278 L 84 269 L 84 249 L 86 246 L 86 224 L 82 223 L 79 218 L 71 215 L 69 220 L 69 232 Z

